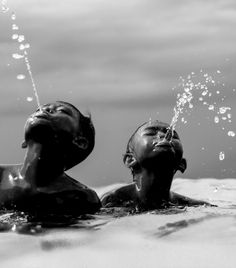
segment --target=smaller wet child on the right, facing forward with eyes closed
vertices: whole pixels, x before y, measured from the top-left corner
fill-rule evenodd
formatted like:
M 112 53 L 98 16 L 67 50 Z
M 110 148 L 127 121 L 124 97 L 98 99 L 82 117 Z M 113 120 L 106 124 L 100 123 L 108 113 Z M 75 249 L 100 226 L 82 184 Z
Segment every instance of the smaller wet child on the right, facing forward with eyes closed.
M 159 121 L 144 123 L 129 139 L 124 164 L 133 183 L 105 193 L 104 207 L 133 207 L 139 210 L 169 206 L 209 205 L 170 191 L 176 171 L 185 171 L 183 147 L 176 131 L 167 139 L 169 125 Z M 169 132 L 168 132 L 169 133 Z

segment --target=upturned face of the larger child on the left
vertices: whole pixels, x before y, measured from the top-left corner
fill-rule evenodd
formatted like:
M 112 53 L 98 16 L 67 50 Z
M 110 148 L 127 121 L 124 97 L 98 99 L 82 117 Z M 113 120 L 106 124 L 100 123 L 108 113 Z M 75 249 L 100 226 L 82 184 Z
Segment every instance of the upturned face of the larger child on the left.
M 34 129 L 37 131 L 32 131 Z M 43 105 L 41 110 L 36 110 L 28 118 L 25 125 L 25 135 L 26 138 L 30 138 L 31 134 L 37 135 L 38 132 L 38 137 L 42 138 L 48 133 L 55 135 L 63 133 L 75 137 L 78 129 L 78 112 L 67 104 L 55 102 Z

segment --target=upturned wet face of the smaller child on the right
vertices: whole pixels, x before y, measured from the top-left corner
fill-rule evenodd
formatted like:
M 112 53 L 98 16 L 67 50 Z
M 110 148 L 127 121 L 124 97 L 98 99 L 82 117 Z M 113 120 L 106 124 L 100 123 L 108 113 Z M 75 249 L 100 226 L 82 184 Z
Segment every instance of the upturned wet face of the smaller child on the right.
M 135 158 L 140 163 L 147 160 L 161 160 L 164 157 L 181 160 L 183 148 L 178 134 L 174 132 L 170 142 L 164 141 L 168 127 L 166 123 L 152 121 L 137 130 L 131 146 Z

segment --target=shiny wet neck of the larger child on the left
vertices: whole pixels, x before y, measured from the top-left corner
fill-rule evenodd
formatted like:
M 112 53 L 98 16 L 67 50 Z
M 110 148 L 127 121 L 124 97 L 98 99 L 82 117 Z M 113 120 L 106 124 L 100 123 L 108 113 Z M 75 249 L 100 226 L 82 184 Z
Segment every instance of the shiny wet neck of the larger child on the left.
M 63 174 L 62 159 L 58 149 L 28 142 L 27 152 L 20 175 L 32 187 L 43 187 Z

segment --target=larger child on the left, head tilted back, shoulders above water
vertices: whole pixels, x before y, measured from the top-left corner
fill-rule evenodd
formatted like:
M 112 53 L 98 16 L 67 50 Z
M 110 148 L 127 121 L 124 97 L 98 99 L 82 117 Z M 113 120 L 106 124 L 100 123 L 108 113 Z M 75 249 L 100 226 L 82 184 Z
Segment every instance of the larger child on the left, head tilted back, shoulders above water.
M 80 215 L 100 208 L 97 194 L 64 171 L 93 150 L 91 119 L 73 105 L 43 105 L 25 124 L 23 164 L 0 166 L 0 208 L 36 215 Z

